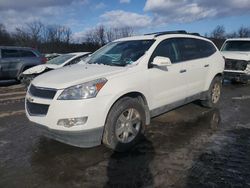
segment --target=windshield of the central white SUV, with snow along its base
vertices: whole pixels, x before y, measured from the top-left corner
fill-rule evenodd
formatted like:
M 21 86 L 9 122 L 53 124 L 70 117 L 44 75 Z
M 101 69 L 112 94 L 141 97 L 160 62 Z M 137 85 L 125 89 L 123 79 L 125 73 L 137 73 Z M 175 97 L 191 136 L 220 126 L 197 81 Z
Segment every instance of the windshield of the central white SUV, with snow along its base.
M 154 43 L 154 40 L 112 42 L 96 51 L 86 63 L 126 66 L 137 61 Z

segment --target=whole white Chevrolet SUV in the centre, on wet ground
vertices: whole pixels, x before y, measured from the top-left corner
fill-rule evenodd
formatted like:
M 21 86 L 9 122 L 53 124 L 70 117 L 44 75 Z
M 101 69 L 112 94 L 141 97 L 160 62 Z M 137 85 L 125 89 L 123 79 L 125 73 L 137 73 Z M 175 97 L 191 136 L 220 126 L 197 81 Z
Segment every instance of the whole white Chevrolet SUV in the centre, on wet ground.
M 47 136 L 78 147 L 134 145 L 150 118 L 220 98 L 224 59 L 208 39 L 161 32 L 116 40 L 29 86 L 25 108 Z

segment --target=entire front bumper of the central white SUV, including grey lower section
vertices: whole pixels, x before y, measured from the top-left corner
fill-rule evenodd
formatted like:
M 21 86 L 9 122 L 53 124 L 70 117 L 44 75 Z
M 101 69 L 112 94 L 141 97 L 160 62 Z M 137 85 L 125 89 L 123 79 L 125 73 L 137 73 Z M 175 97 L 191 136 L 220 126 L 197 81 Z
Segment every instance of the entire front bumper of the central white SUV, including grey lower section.
M 57 100 L 60 93 L 61 91 L 58 91 L 54 99 L 45 99 L 34 97 L 27 92 L 25 109 L 28 119 L 42 129 L 45 136 L 54 140 L 77 147 L 100 145 L 112 96 L 105 95 L 86 100 Z M 35 105 L 34 108 L 38 108 L 41 114 L 34 114 L 34 108 L 31 112 L 28 103 Z M 84 124 L 72 127 L 58 124 L 58 120 L 80 117 L 87 117 Z

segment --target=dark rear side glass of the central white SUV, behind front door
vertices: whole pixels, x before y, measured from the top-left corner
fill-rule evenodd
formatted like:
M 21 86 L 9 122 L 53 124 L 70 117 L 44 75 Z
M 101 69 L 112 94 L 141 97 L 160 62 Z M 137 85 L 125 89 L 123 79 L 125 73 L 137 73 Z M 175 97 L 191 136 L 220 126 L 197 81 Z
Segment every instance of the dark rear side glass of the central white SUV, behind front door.
M 192 38 L 178 38 L 178 46 L 182 61 L 209 57 L 216 52 L 208 41 Z

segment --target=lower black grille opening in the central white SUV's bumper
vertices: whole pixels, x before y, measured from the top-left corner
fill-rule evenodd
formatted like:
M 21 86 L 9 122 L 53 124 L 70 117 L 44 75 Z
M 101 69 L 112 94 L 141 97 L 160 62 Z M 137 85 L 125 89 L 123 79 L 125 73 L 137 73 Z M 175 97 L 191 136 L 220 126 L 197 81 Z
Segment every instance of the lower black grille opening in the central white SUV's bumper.
M 26 101 L 26 107 L 29 114 L 32 115 L 47 115 L 49 105 L 47 104 L 38 104 L 38 103 L 31 103 Z

